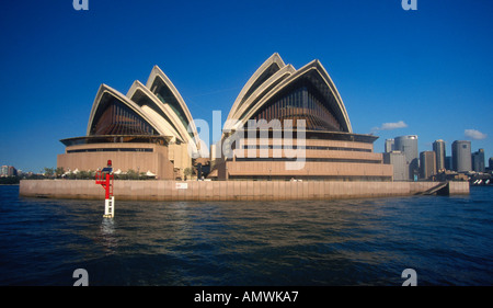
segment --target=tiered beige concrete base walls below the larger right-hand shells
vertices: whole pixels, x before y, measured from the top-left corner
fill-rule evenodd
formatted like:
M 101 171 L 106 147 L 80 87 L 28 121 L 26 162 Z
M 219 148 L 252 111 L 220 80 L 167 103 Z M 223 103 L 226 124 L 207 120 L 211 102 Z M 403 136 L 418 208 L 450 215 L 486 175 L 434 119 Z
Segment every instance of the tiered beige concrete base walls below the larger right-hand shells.
M 295 140 L 293 141 L 296 144 Z M 355 181 L 391 181 L 393 178 L 393 167 L 382 163 L 382 155 L 372 152 L 371 142 L 305 139 L 303 141 L 307 147 L 316 146 L 339 149 L 306 149 L 296 151 L 296 153 L 290 153 L 295 155 L 295 159 L 298 161 L 296 166 L 293 161 L 286 163 L 286 161 L 279 160 L 253 159 L 286 158 L 287 152 L 285 150 L 267 148 L 248 149 L 243 147 L 251 145 L 282 145 L 282 141 L 283 139 L 278 138 L 241 138 L 238 149 L 233 150 L 234 156 L 232 159 L 227 160 L 226 163 L 223 159 L 216 160 L 217 179 L 253 180 L 273 176 L 274 180 L 325 178 L 326 180 L 341 181 L 347 179 Z M 242 158 L 246 159 L 243 160 Z M 305 158 L 307 158 L 307 161 L 305 161 Z

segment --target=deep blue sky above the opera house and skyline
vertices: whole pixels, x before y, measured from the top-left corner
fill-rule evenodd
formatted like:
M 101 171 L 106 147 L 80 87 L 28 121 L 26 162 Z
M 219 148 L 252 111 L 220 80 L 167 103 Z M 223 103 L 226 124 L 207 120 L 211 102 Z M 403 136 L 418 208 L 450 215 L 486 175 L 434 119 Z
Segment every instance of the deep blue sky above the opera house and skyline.
M 229 109 L 273 53 L 319 59 L 353 130 L 383 140 L 471 139 L 493 156 L 493 1 L 8 1 L 0 10 L 0 164 L 56 167 L 59 139 L 83 136 L 101 83 L 126 93 L 153 65 L 195 118 Z M 403 122 L 406 127 L 382 128 Z M 388 125 L 389 126 L 389 125 Z M 392 126 L 392 125 L 390 125 Z M 465 136 L 479 130 L 482 139 Z M 478 134 L 477 134 L 478 135 Z M 484 136 L 485 135 L 485 136 Z

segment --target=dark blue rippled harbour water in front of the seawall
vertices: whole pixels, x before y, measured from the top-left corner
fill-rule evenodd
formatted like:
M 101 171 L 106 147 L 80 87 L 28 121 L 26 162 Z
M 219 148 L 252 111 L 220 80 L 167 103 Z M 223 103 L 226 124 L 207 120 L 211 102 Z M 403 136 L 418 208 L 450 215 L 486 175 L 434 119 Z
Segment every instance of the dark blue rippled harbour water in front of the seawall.
M 493 189 L 306 202 L 26 198 L 0 186 L 0 285 L 493 285 Z

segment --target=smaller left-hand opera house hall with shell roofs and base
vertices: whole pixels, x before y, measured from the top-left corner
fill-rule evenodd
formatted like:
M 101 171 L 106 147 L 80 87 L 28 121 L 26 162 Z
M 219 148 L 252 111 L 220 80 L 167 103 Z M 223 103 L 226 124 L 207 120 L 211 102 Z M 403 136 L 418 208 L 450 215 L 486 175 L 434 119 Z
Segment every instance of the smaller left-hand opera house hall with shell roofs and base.
M 87 135 L 62 139 L 57 167 L 98 170 L 113 161 L 115 172 L 145 172 L 183 179 L 198 152 L 192 115 L 176 88 L 154 66 L 147 83 L 136 80 L 127 94 L 102 84 L 92 104 Z M 191 151 L 188 150 L 191 148 Z

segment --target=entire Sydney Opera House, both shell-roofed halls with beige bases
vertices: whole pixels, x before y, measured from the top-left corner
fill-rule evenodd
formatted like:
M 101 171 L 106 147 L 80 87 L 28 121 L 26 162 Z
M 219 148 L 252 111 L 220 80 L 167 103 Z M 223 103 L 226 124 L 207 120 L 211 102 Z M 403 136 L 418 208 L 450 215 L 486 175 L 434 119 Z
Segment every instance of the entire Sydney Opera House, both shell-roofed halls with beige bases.
M 374 152 L 378 137 L 354 134 L 332 79 L 319 60 L 295 69 L 272 55 L 248 80 L 213 146 L 214 180 L 391 181 L 392 166 Z M 139 170 L 183 179 L 205 151 L 191 112 L 154 67 L 126 95 L 102 84 L 87 135 L 61 140 L 65 170 Z

